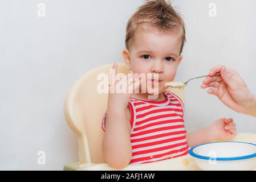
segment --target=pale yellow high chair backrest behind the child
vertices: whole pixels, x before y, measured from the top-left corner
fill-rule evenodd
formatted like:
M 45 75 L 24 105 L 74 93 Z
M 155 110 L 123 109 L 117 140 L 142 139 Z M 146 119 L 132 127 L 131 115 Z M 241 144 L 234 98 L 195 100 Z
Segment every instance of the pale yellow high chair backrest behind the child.
M 64 101 L 64 115 L 68 126 L 78 137 L 78 156 L 82 164 L 105 163 L 101 121 L 107 110 L 108 93 L 97 92 L 97 86 L 102 82 L 97 80 L 97 76 L 99 79 L 102 74 L 109 77 L 112 66 L 113 64 L 105 64 L 84 73 L 72 85 Z M 117 73 L 128 74 L 123 63 L 118 63 Z M 183 100 L 180 90 L 168 90 Z

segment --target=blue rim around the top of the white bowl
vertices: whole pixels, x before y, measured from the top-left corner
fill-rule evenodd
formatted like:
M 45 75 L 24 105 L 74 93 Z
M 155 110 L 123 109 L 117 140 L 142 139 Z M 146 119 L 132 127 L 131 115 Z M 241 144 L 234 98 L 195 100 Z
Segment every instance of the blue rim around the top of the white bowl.
M 252 145 L 256 146 L 256 144 L 247 143 L 247 142 L 211 142 L 211 143 L 246 143 L 246 144 L 252 144 Z M 212 157 L 209 157 L 209 156 L 203 156 L 203 155 L 198 155 L 198 154 L 194 153 L 195 148 L 197 148 L 199 146 L 204 146 L 205 144 L 211 144 L 211 143 L 204 143 L 204 144 L 200 144 L 198 146 L 192 147 L 189 150 L 189 154 L 191 156 L 193 156 L 194 158 L 205 159 L 205 160 L 209 160 L 209 159 L 214 159 L 214 160 L 242 160 L 242 159 L 249 159 L 249 158 L 256 157 L 256 152 L 254 154 L 238 156 L 238 157 L 233 157 L 233 158 L 212 158 Z

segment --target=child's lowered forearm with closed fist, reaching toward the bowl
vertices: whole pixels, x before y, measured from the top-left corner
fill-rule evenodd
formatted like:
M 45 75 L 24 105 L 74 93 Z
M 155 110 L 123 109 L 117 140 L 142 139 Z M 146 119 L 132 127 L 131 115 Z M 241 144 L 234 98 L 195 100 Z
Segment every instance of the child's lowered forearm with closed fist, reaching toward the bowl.
M 236 134 L 237 131 L 233 119 L 222 118 L 218 119 L 205 129 L 186 134 L 186 139 L 188 141 L 188 146 L 194 147 L 198 144 L 230 139 L 235 137 Z

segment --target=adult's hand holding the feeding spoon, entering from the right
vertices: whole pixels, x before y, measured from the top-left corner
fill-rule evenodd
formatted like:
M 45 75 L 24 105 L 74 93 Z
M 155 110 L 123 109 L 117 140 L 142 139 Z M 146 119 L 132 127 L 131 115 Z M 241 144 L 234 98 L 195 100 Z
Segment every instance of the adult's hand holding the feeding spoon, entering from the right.
M 213 76 L 217 72 L 220 75 Z M 217 96 L 230 109 L 256 117 L 256 96 L 250 92 L 237 71 L 222 65 L 214 67 L 201 88 L 210 88 L 208 93 Z

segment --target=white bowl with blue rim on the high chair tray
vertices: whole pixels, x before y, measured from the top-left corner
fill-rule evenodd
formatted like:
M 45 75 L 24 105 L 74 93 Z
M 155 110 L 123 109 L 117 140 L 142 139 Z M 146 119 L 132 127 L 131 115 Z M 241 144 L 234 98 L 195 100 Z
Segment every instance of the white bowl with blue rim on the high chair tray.
M 256 166 L 256 144 L 213 142 L 193 147 L 189 154 L 203 170 L 250 170 Z

